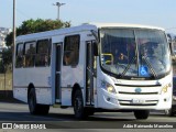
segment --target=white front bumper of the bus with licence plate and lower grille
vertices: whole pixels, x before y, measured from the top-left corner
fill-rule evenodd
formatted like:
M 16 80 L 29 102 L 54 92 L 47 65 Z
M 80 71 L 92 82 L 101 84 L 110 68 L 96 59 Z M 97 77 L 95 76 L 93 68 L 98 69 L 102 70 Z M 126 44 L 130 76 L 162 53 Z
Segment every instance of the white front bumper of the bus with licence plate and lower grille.
M 101 90 L 98 107 L 110 110 L 165 110 L 172 106 L 170 95 L 113 95 Z

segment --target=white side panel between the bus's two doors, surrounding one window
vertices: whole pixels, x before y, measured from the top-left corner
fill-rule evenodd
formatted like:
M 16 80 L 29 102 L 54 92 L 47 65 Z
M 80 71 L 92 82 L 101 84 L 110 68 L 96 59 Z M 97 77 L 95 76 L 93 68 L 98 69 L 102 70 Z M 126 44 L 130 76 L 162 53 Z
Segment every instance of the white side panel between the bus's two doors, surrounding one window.
M 63 106 L 72 106 L 72 91 L 74 85 L 78 85 L 82 90 L 82 96 L 85 98 L 85 87 L 86 87 L 86 42 L 94 40 L 92 36 L 88 36 L 90 31 L 82 31 L 79 33 L 74 33 L 69 35 L 79 35 L 80 44 L 79 44 L 79 61 L 76 66 L 64 66 L 62 65 L 62 105 Z M 63 47 L 64 51 L 64 47 Z M 69 73 L 69 74 L 68 74 Z

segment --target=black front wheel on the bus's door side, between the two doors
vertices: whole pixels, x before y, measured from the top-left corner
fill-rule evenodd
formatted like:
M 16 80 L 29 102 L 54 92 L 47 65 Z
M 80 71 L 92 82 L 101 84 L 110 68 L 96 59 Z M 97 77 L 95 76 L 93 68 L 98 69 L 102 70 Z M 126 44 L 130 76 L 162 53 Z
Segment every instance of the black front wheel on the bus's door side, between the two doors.
M 75 118 L 79 120 L 85 119 L 88 116 L 84 108 L 84 99 L 80 89 L 77 89 L 74 95 L 74 113 Z

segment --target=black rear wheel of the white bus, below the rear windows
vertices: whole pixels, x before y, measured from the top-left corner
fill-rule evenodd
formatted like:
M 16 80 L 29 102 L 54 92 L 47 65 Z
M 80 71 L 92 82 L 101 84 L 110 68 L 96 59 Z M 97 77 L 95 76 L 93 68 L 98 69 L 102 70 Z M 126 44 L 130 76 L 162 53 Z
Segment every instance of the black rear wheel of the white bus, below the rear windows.
M 50 110 L 50 106 L 47 105 L 37 105 L 35 89 L 32 88 L 29 92 L 29 109 L 31 114 L 47 114 Z

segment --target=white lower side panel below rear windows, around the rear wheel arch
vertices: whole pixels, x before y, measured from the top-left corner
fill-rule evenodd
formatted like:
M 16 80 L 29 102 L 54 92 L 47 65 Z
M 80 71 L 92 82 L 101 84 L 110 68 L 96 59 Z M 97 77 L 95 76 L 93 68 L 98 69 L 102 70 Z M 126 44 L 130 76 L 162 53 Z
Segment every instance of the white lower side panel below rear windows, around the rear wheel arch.
M 20 100 L 28 102 L 28 88 L 32 84 L 35 88 L 37 103 L 52 103 L 50 67 L 16 68 L 13 74 L 18 75 L 18 77 L 13 77 L 14 98 L 20 98 Z

